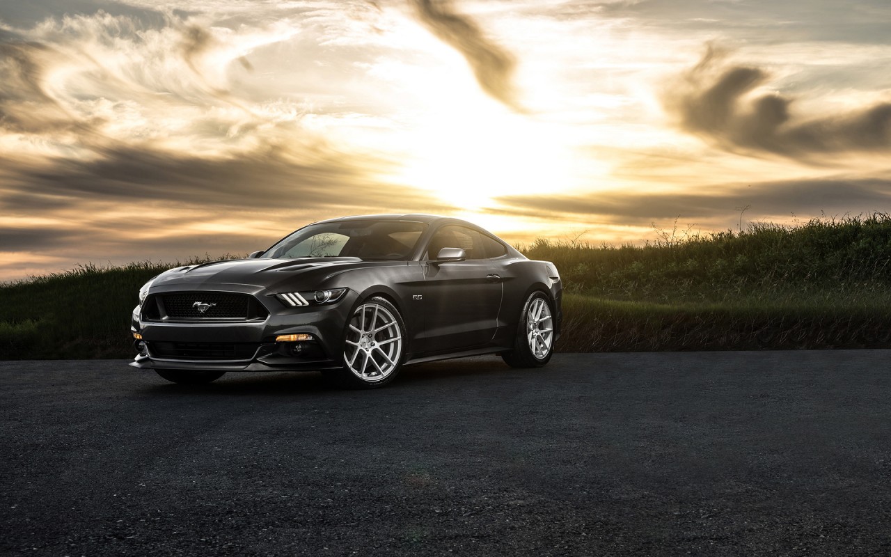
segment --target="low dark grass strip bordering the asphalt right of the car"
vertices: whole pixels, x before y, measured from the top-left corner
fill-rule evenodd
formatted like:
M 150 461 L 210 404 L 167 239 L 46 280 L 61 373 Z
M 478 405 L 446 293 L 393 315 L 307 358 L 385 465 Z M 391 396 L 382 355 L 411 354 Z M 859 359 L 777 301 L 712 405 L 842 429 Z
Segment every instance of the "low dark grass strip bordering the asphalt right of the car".
M 568 294 L 563 310 L 560 350 L 567 352 L 891 347 L 891 315 L 865 305 L 663 304 Z

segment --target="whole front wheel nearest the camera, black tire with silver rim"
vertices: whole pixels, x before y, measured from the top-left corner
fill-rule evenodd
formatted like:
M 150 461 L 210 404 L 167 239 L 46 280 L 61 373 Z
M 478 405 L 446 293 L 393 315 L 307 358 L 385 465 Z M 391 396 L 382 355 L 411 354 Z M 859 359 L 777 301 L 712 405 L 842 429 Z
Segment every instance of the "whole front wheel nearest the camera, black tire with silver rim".
M 388 299 L 365 300 L 344 328 L 343 367 L 326 377 L 347 389 L 378 389 L 405 361 L 405 323 Z

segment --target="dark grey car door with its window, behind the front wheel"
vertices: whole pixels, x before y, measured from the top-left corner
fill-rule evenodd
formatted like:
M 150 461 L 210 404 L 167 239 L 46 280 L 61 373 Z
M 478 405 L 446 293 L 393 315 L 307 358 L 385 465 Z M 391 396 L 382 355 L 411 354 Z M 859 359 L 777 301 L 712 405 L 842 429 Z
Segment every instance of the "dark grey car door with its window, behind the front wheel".
M 463 261 L 437 261 L 443 248 L 461 248 Z M 445 225 L 430 239 L 423 258 L 422 352 L 484 345 L 495 337 L 502 283 L 486 258 L 480 233 Z

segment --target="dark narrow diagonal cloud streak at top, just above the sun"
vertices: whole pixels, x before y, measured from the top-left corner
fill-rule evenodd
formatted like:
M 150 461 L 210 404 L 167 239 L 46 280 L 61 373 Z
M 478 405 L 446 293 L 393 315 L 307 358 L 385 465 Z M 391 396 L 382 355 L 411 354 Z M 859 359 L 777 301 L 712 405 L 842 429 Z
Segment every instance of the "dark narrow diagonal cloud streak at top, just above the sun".
M 487 38 L 483 29 L 457 12 L 450 0 L 413 1 L 421 22 L 446 45 L 462 53 L 486 94 L 514 111 L 524 111 L 516 99 L 516 60 L 510 52 Z

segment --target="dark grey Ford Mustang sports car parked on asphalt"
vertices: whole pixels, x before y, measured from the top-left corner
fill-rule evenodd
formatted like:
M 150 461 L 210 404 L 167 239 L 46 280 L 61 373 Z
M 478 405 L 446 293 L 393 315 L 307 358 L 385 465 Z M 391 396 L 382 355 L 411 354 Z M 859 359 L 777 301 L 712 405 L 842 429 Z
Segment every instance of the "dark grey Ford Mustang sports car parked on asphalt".
M 560 336 L 561 294 L 556 266 L 468 222 L 335 218 L 248 258 L 145 283 L 130 365 L 191 384 L 320 371 L 358 389 L 386 385 L 404 365 L 461 356 L 538 367 Z

